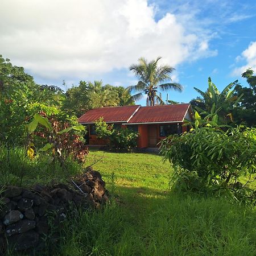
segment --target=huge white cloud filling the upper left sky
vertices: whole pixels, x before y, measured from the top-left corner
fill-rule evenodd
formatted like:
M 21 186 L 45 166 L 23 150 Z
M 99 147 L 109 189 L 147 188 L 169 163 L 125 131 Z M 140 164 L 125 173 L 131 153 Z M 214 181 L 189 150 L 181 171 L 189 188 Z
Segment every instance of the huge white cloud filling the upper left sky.
M 171 13 L 156 21 L 155 11 L 147 0 L 2 0 L 1 54 L 52 79 L 127 68 L 141 56 L 177 67 L 217 54 L 209 32 Z

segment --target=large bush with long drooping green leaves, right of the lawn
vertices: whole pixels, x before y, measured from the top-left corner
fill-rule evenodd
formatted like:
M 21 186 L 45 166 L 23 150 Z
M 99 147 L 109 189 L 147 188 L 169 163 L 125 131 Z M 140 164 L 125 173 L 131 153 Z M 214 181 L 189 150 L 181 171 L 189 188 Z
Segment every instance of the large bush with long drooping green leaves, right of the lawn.
M 160 152 L 174 164 L 176 189 L 226 193 L 236 200 L 255 200 L 247 183 L 256 173 L 255 129 L 238 127 L 226 132 L 203 127 L 162 141 Z M 241 184 L 241 176 L 247 176 Z

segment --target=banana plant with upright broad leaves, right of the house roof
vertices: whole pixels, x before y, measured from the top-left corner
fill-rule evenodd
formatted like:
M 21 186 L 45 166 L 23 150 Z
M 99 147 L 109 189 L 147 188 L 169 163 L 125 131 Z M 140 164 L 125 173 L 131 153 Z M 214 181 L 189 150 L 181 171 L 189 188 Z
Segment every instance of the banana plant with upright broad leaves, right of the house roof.
M 218 113 L 218 121 L 220 124 L 226 125 L 233 122 L 233 109 L 242 97 L 237 97 L 235 94 L 236 89 L 232 89 L 237 85 L 237 82 L 238 80 L 231 82 L 220 92 L 209 77 L 206 92 L 194 87 L 194 89 L 201 94 L 201 98 L 197 97 L 196 100 L 192 100 L 191 103 L 195 104 L 193 107 L 204 116 L 212 114 L 212 112 Z

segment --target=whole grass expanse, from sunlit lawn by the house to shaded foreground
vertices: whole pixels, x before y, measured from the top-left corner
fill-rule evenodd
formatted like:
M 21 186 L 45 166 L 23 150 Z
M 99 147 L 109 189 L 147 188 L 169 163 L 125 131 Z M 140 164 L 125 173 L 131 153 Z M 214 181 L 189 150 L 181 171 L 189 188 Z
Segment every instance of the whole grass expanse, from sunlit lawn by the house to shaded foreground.
M 90 151 L 86 165 L 102 155 Z M 160 156 L 106 152 L 93 168 L 117 203 L 64 228 L 59 255 L 255 255 L 255 209 L 171 194 Z

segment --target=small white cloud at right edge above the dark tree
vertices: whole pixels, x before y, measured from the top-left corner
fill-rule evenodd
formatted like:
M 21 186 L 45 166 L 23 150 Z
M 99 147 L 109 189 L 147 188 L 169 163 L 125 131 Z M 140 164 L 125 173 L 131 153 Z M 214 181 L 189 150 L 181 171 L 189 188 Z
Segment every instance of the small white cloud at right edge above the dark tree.
M 237 62 L 242 60 L 244 60 L 246 64 L 235 68 L 233 70 L 234 76 L 240 76 L 241 73 L 245 72 L 247 68 L 252 68 L 254 71 L 256 71 L 256 41 L 251 42 L 247 49 L 245 49 L 241 55 L 236 57 Z

